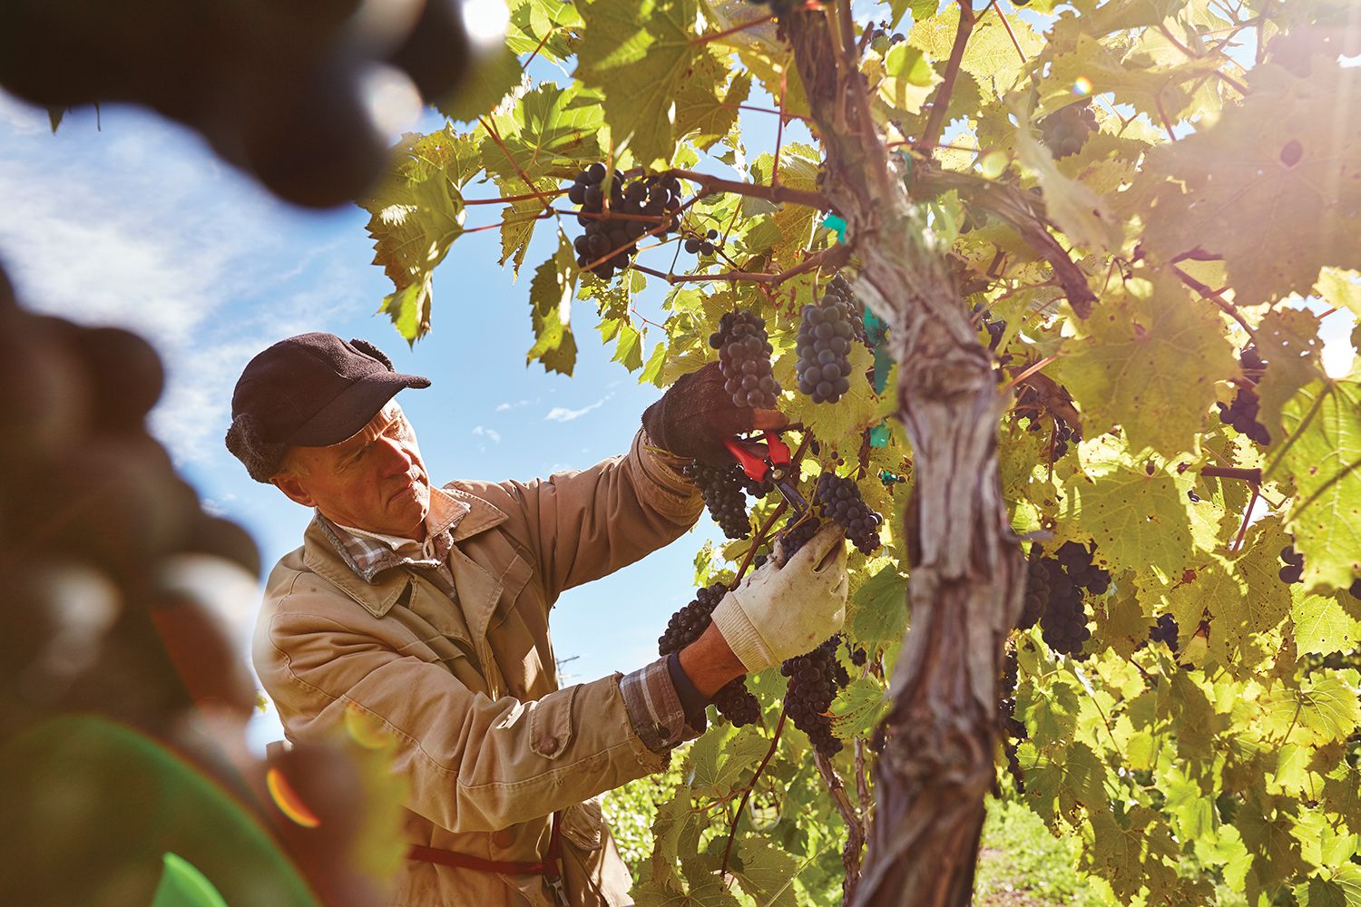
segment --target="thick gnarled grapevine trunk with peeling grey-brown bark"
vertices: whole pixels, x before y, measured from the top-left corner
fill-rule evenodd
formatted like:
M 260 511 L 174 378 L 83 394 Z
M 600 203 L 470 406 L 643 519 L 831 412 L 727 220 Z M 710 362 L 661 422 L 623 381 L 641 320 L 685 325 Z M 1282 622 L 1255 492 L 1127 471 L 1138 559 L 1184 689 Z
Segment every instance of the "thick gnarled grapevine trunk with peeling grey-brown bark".
M 848 4 L 791 8 L 781 22 L 826 150 L 823 192 L 847 220 L 859 262 L 855 291 L 890 326 L 897 415 L 916 476 L 904 514 L 912 624 L 891 677 L 876 808 L 852 903 L 968 904 L 994 783 L 1002 651 L 1025 586 L 998 475 L 1002 398 L 912 204 L 909 174 L 870 116 Z M 947 102 L 945 83 L 932 124 Z

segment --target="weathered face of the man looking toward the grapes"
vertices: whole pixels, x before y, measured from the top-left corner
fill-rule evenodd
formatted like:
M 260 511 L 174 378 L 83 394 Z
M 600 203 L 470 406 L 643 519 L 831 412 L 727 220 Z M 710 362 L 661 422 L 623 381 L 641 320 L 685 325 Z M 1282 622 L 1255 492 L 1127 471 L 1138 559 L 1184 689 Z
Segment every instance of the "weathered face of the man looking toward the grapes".
M 331 447 L 294 447 L 289 462 L 291 472 L 275 476 L 275 484 L 331 522 L 425 538 L 430 477 L 415 430 L 395 401 L 352 438 Z

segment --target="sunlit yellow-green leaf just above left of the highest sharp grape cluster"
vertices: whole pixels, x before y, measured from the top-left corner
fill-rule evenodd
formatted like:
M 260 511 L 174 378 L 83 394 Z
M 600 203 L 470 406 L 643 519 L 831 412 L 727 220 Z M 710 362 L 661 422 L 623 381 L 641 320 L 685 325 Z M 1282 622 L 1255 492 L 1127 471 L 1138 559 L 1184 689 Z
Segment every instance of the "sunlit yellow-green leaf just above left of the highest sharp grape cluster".
M 600 159 L 604 118 L 593 91 L 544 82 L 519 101 L 483 120 L 482 163 L 502 181 L 525 179 L 538 189 L 557 189 Z

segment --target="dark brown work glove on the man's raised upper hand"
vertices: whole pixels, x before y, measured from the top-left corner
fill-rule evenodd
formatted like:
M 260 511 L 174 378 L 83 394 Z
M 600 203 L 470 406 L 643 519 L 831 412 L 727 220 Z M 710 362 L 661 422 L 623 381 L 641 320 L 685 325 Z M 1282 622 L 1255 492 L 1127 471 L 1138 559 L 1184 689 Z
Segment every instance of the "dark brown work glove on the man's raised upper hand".
M 723 446 L 728 438 L 755 428 L 783 428 L 787 423 L 777 409 L 732 403 L 716 362 L 680 375 L 661 400 L 642 412 L 642 428 L 655 445 L 716 466 L 734 462 Z

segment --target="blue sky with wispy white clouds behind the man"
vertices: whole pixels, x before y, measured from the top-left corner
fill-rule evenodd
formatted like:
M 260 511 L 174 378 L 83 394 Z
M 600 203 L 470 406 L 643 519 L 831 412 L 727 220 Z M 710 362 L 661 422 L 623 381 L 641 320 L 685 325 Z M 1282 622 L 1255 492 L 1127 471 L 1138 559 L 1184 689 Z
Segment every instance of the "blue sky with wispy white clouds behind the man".
M 441 483 L 589 466 L 625 451 L 660 396 L 608 360 L 589 305 L 573 310 L 573 378 L 525 367 L 528 281 L 551 252 L 550 230 L 540 228 L 519 283 L 495 264 L 498 231 L 461 238 L 436 275 L 434 330 L 411 351 L 373 314 L 391 284 L 370 264 L 366 212 L 283 205 L 195 133 L 142 110 L 103 107 L 101 126 L 80 110 L 52 135 L 44 110 L 0 94 L 0 261 L 29 307 L 151 339 L 169 373 L 154 432 L 206 504 L 250 530 L 265 564 L 297 547 L 310 511 L 252 481 L 222 437 L 237 375 L 275 340 L 305 330 L 363 337 L 399 371 L 429 377 L 430 389 L 399 400 Z M 479 207 L 468 226 L 498 219 L 498 207 Z M 660 321 L 657 301 L 640 310 Z M 693 593 L 694 552 L 710 537 L 705 518 L 640 564 L 565 594 L 554 640 L 561 658 L 577 657 L 565 673 L 589 680 L 655 658 L 667 617 Z M 248 596 L 226 613 L 244 657 L 256 604 Z M 272 714 L 252 729 L 256 745 L 276 736 Z

